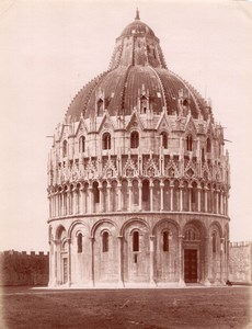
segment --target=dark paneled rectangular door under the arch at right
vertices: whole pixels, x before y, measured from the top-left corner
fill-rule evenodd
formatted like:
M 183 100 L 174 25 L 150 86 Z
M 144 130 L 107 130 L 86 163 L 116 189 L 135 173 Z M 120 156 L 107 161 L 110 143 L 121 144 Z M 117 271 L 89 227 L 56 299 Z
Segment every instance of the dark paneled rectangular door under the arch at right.
M 184 250 L 184 281 L 187 283 L 197 282 L 197 250 Z

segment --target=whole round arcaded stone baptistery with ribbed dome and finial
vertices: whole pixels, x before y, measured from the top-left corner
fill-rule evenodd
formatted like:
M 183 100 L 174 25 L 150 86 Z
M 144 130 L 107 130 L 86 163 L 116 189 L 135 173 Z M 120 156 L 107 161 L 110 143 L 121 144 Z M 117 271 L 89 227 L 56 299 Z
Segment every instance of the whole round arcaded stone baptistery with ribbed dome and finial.
M 225 283 L 224 146 L 210 103 L 168 68 L 137 11 L 54 134 L 49 286 Z

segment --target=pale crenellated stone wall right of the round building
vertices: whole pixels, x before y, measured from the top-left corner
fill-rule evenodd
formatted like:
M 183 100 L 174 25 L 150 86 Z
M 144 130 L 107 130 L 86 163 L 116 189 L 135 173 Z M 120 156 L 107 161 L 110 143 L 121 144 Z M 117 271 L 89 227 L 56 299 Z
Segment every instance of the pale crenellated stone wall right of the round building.
M 252 283 L 252 242 L 231 242 L 229 247 L 229 280 Z

